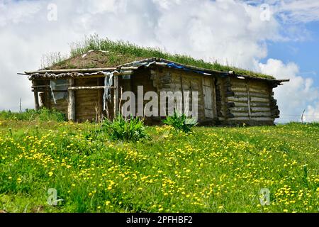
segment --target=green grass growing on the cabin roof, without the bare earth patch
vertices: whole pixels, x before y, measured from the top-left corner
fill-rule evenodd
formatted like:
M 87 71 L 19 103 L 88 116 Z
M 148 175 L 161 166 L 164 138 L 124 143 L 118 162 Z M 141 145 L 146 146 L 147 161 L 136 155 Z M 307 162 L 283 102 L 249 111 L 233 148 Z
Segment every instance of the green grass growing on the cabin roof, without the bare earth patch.
M 89 50 L 103 50 L 108 53 L 108 60 L 113 64 L 122 65 L 134 60 L 140 60 L 149 57 L 159 57 L 173 62 L 179 62 L 184 65 L 191 65 L 195 67 L 202 67 L 208 70 L 219 71 L 235 71 L 237 74 L 247 75 L 251 77 L 260 77 L 267 79 L 274 79 L 274 77 L 252 72 L 249 70 L 243 70 L 237 67 L 229 65 L 220 65 L 217 61 L 205 62 L 204 60 L 196 60 L 188 55 L 172 55 L 168 52 L 164 52 L 159 48 L 144 48 L 133 43 L 128 43 L 123 40 L 113 41 L 108 38 L 102 39 L 98 35 L 91 35 L 82 41 L 73 43 L 71 46 L 71 57 L 77 57 L 84 55 Z M 61 61 L 57 65 L 67 65 L 68 60 Z M 88 65 L 89 66 L 89 65 Z M 116 65 L 112 65 L 116 66 Z

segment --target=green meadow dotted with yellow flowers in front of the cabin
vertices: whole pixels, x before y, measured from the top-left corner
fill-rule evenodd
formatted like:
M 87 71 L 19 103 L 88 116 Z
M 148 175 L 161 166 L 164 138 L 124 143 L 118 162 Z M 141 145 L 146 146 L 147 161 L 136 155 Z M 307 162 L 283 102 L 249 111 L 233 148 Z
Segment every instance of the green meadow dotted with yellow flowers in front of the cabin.
M 0 211 L 318 212 L 318 123 L 188 135 L 157 126 L 138 143 L 99 128 L 0 117 Z

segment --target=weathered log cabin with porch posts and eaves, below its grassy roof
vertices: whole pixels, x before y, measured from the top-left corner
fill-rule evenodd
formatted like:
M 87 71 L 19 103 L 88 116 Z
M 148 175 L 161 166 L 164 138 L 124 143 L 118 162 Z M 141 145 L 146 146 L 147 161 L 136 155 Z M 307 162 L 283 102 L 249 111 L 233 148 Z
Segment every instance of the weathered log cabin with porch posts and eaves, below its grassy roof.
M 88 52 L 78 60 L 93 54 Z M 99 62 L 103 65 L 101 58 Z M 156 57 L 114 67 L 78 66 L 26 72 L 32 81 L 35 109 L 57 109 L 69 121 L 101 121 L 121 114 L 123 92 L 138 96 L 142 86 L 143 95 L 197 92 L 197 118 L 202 125 L 273 125 L 279 118 L 273 89 L 289 81 L 208 70 Z M 186 97 L 182 98 L 185 101 Z M 145 117 L 145 122 L 158 124 L 162 118 Z

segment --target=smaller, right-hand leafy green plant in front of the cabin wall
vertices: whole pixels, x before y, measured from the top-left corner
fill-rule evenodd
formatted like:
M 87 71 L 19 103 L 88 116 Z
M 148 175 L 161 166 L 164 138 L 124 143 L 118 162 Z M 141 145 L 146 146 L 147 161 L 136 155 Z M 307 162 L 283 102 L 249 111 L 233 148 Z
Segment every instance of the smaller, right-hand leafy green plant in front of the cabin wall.
M 163 123 L 173 126 L 177 130 L 183 131 L 184 133 L 191 132 L 191 128 L 197 125 L 197 121 L 194 119 L 187 118 L 185 114 L 177 114 L 177 112 L 174 112 L 173 116 L 168 116 Z

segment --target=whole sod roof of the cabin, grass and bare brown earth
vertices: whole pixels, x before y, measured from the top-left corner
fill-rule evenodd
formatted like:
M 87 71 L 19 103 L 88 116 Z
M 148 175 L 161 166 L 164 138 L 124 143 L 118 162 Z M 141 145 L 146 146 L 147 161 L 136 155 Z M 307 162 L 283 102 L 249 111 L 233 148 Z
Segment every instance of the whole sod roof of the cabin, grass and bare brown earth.
M 96 51 L 89 52 L 91 50 Z M 274 77 L 266 74 L 243 70 L 229 65 L 220 65 L 218 62 L 196 60 L 187 55 L 172 55 L 159 48 L 145 48 L 128 42 L 112 41 L 108 38 L 101 39 L 97 35 L 92 35 L 83 41 L 73 43 L 70 55 L 71 57 L 67 60 L 62 60 L 60 55 L 52 55 L 51 58 L 53 59 L 49 59 L 48 61 L 52 62 L 53 65 L 47 67 L 47 69 L 115 67 L 135 60 L 159 57 L 209 70 L 234 71 L 237 74 L 274 79 Z M 48 57 L 50 58 L 50 56 Z

